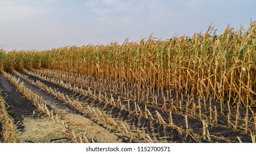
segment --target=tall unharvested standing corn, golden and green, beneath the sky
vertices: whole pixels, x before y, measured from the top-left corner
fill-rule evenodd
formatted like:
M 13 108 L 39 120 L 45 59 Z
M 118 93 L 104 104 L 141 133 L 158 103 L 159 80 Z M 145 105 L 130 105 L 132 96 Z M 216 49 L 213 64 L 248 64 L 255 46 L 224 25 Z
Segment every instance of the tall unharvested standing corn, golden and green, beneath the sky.
M 256 23 L 215 32 L 210 26 L 205 35 L 166 41 L 150 36 L 122 45 L 1 51 L 0 63 L 4 70 L 49 68 L 255 106 Z

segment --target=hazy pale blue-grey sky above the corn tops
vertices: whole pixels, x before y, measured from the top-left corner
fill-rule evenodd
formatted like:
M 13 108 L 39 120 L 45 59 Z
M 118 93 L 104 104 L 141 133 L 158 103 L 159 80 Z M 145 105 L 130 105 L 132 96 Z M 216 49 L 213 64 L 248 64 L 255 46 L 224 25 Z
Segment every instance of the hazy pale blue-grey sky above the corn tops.
M 45 50 L 192 36 L 256 20 L 254 0 L 0 0 L 0 48 Z

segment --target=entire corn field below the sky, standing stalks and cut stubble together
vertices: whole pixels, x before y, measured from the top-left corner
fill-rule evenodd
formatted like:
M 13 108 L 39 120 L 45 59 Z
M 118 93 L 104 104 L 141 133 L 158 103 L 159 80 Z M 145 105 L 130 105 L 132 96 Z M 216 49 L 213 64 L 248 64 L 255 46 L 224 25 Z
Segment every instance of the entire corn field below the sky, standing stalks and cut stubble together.
M 0 141 L 255 142 L 256 24 L 232 30 L 3 52 Z

